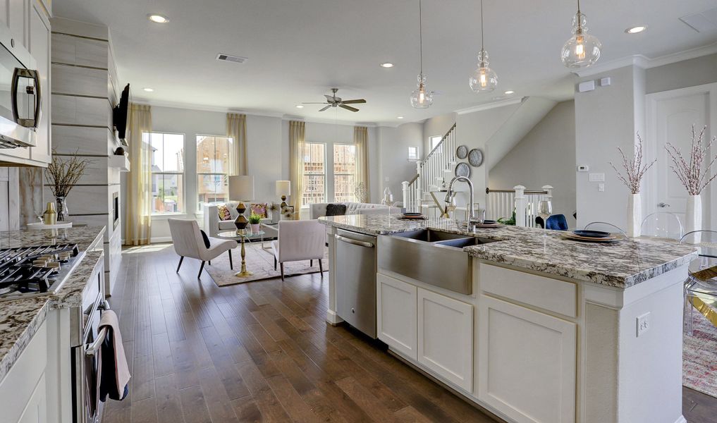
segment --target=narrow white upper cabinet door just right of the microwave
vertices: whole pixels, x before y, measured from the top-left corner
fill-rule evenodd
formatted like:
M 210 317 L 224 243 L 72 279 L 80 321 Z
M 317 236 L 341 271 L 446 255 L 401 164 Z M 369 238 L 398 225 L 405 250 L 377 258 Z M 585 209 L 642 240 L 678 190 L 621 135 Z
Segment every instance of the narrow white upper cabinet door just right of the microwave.
M 42 95 L 40 122 L 37 127 L 37 145 L 30 148 L 30 158 L 41 163 L 49 163 L 52 158 L 52 145 L 50 143 L 50 116 L 49 101 L 49 71 L 50 71 L 50 29 L 49 20 L 45 16 L 42 6 L 32 1 L 30 11 L 30 45 L 29 50 L 37 62 L 37 71 L 40 75 L 40 92 Z

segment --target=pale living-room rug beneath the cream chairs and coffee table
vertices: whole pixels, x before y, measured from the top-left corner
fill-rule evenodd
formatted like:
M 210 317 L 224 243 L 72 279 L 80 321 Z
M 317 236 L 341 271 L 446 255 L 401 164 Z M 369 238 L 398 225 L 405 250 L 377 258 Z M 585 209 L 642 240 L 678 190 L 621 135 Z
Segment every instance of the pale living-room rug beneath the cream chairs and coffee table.
M 268 243 L 267 243 L 268 245 Z M 252 272 L 249 277 L 237 277 L 234 273 L 242 270 L 241 247 L 232 250 L 232 260 L 234 260 L 234 270 L 229 270 L 229 255 L 226 253 L 212 260 L 212 265 L 206 265 L 204 268 L 212 280 L 219 286 L 234 285 L 237 283 L 252 282 L 254 280 L 271 279 L 272 277 L 281 277 L 280 267 L 274 270 L 274 255 L 271 249 L 263 249 L 259 242 L 245 244 L 247 257 L 247 270 Z M 328 271 L 328 251 L 323 254 L 323 270 Z M 284 263 L 284 276 L 291 277 L 293 275 L 306 275 L 308 273 L 318 273 L 318 260 L 313 261 L 313 266 L 309 265 L 309 260 L 300 262 Z

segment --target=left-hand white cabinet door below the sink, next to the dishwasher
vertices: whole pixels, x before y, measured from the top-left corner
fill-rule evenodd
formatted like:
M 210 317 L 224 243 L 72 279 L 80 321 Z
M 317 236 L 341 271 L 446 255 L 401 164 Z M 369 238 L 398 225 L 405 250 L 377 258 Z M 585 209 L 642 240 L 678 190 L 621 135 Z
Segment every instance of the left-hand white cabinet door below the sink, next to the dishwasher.
M 381 275 L 376 277 L 376 326 L 379 339 L 394 351 L 417 360 L 417 287 Z

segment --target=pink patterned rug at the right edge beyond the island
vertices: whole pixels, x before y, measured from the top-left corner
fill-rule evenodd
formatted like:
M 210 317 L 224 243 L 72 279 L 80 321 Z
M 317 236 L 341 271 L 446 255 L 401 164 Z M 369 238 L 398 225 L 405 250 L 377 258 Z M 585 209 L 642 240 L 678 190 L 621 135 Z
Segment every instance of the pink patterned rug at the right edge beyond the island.
M 682 384 L 717 397 L 717 328 L 693 310 L 693 333 L 682 343 Z

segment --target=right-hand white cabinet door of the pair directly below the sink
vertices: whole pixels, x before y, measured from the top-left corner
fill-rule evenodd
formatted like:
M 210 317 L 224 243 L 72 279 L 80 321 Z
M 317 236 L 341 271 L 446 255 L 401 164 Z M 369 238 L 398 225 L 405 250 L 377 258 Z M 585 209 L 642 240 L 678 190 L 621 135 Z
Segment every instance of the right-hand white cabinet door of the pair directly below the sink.
M 473 305 L 418 288 L 418 361 L 473 389 Z

